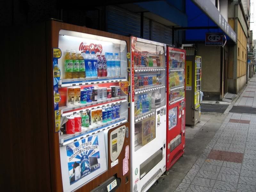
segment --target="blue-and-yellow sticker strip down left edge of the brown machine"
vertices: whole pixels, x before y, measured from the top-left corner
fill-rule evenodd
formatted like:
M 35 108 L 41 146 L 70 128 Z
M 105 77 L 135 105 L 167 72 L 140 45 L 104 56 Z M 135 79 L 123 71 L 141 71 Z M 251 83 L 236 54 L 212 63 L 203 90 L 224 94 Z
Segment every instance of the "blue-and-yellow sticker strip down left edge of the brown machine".
M 53 54 L 53 98 L 54 98 L 54 119 L 55 119 L 55 132 L 60 131 L 60 93 L 58 92 L 58 83 L 60 81 L 60 68 L 58 65 L 58 59 L 61 57 L 61 50 L 59 48 L 52 49 Z

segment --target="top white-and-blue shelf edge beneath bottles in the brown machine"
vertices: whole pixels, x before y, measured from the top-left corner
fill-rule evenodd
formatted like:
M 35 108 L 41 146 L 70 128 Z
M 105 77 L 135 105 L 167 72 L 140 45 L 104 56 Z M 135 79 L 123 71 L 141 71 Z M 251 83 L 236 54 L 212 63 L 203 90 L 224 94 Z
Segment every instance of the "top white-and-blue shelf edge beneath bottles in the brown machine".
M 80 85 L 92 85 L 102 83 L 116 83 L 127 81 L 126 76 L 114 76 L 114 77 L 92 77 L 92 78 L 79 78 L 79 79 L 60 79 L 60 87 L 71 87 Z

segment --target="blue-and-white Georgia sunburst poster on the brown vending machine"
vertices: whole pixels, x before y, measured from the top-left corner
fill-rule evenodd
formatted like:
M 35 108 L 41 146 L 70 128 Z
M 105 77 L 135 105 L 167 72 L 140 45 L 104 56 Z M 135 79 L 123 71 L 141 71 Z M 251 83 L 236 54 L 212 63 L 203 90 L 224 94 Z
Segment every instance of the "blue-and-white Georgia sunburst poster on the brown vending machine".
M 66 149 L 70 185 L 100 169 L 98 135 L 76 141 Z

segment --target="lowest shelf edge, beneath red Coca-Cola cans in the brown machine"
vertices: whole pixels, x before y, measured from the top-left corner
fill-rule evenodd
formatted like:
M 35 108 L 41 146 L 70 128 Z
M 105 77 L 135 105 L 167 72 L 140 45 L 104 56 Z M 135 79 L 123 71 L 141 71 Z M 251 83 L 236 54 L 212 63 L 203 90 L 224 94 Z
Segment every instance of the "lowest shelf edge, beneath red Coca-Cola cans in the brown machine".
M 76 132 L 75 134 L 72 134 L 72 135 L 71 134 L 70 135 L 68 135 L 68 134 L 60 135 L 59 142 L 60 142 L 60 145 L 65 146 L 65 145 L 68 145 L 77 140 L 83 139 L 85 137 L 89 137 L 95 133 L 104 131 L 109 128 L 116 127 L 116 126 L 118 126 L 120 124 L 124 124 L 126 122 L 127 122 L 127 120 L 126 120 L 125 116 L 121 116 L 120 118 L 109 121 L 108 123 L 101 123 L 97 126 L 90 125 L 89 127 L 82 127 L 81 132 Z

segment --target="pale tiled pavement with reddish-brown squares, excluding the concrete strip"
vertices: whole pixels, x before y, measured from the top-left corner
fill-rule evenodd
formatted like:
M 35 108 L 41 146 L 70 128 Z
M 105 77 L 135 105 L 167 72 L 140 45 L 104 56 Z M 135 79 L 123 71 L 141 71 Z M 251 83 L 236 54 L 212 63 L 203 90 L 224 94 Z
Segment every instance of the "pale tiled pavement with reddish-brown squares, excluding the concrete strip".
M 256 78 L 252 81 L 255 81 L 255 85 L 248 84 L 245 90 L 254 89 L 254 95 Z M 250 96 L 245 90 L 243 93 Z M 248 101 L 250 97 L 244 97 L 245 94 L 240 96 L 236 104 L 250 102 L 251 107 L 256 106 L 256 99 Z M 175 190 L 201 191 L 256 192 L 256 115 L 228 113 L 215 136 Z

